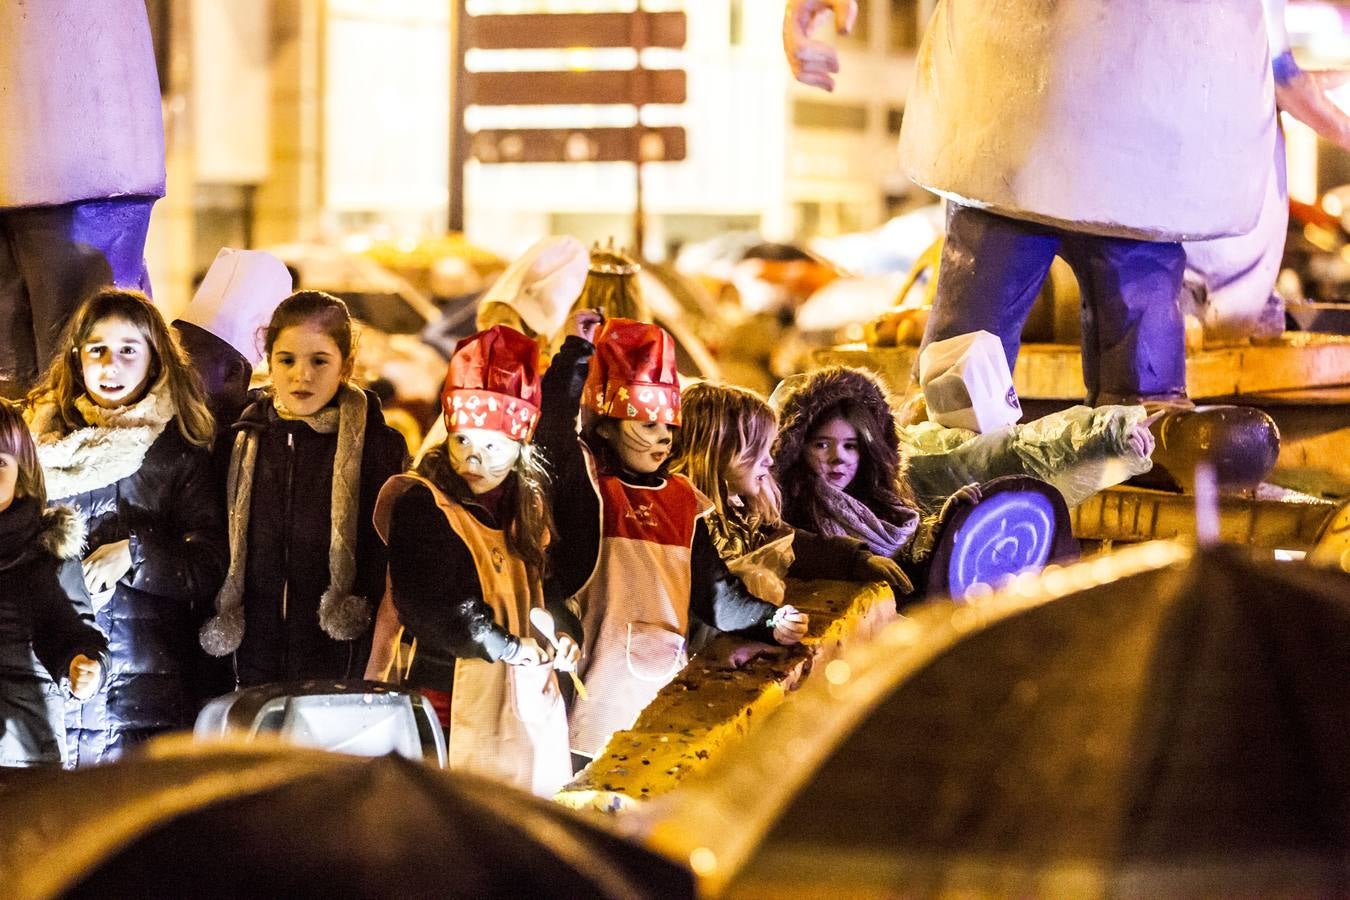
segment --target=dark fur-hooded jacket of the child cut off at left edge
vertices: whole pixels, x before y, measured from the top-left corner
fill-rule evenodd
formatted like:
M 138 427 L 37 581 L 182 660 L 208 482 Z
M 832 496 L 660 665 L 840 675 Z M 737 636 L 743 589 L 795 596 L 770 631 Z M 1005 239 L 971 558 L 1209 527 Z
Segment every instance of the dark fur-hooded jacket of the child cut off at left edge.
M 108 640 L 90 623 L 88 596 L 77 602 L 62 588 L 63 567 L 78 575 L 82 544 L 84 519 L 69 506 L 39 510 L 23 498 L 0 513 L 0 766 L 59 765 L 57 685 L 78 654 L 107 667 Z

